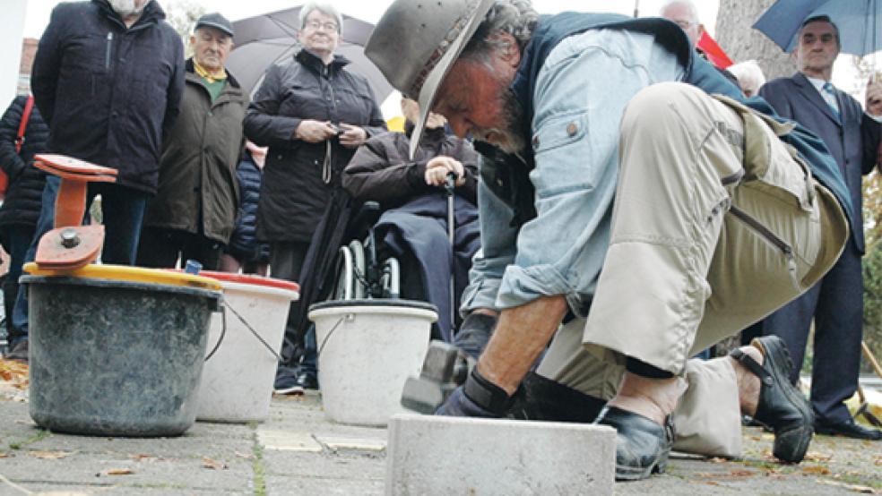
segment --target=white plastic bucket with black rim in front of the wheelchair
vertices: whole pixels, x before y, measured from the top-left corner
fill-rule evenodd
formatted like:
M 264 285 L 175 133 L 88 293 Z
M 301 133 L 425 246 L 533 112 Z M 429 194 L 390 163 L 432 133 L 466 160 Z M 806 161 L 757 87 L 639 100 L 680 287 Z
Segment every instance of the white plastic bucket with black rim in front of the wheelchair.
M 350 300 L 310 307 L 316 322 L 318 383 L 334 422 L 386 425 L 404 412 L 404 382 L 419 375 L 434 305 L 406 300 Z

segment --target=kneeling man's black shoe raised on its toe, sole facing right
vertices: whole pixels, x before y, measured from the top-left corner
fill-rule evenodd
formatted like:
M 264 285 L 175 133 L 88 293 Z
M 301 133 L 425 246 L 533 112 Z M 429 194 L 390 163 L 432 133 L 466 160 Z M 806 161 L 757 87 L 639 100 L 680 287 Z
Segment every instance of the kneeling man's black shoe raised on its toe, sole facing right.
M 762 383 L 754 418 L 774 432 L 774 456 L 785 462 L 799 463 L 809 450 L 815 414 L 809 400 L 789 379 L 793 366 L 790 353 L 777 336 L 755 338 L 750 344 L 765 356 L 762 365 L 738 348 L 730 355 L 756 374 Z

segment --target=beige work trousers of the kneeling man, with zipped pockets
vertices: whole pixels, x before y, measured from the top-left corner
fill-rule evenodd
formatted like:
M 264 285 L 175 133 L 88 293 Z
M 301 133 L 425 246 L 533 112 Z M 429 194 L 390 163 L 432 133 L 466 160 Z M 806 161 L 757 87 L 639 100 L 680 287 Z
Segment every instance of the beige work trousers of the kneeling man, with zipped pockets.
M 738 457 L 731 359 L 689 356 L 808 290 L 848 238 L 838 202 L 777 138 L 788 131 L 683 83 L 632 98 L 591 311 L 558 329 L 537 372 L 604 399 L 625 356 L 678 374 L 675 449 Z

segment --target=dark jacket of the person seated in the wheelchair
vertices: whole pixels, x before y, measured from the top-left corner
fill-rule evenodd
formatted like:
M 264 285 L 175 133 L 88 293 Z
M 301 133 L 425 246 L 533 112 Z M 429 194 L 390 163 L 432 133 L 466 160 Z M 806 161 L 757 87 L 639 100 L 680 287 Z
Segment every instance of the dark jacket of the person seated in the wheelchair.
M 410 159 L 413 124 L 407 133 L 379 134 L 364 144 L 343 171 L 343 187 L 358 201 L 379 201 L 383 210 L 412 198 L 436 192 L 426 184 L 426 165 L 432 158 L 446 156 L 463 163 L 466 181 L 456 192 L 477 204 L 478 153 L 469 141 L 445 133 L 444 127 L 427 129 Z

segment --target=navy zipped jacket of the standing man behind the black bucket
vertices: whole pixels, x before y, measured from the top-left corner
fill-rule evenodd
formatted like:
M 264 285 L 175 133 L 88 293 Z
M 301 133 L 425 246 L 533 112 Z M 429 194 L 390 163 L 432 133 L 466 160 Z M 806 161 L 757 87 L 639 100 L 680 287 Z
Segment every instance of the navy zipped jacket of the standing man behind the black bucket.
M 184 92 L 184 47 L 156 0 L 126 28 L 108 4 L 58 4 L 39 40 L 30 84 L 49 124 L 48 150 L 119 171 L 117 184 L 155 192 L 162 139 Z

